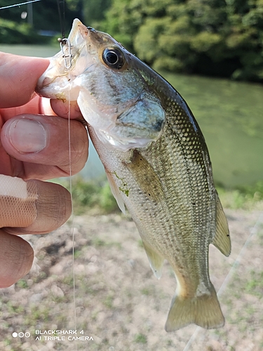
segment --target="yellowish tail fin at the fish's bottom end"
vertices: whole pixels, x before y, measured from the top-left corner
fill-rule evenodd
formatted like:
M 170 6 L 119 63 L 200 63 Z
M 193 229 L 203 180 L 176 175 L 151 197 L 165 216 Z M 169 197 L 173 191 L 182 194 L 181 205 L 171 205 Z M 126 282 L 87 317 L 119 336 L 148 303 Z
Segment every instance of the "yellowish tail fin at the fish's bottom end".
M 194 298 L 184 298 L 175 293 L 165 326 L 166 331 L 176 331 L 191 323 L 205 329 L 219 328 L 224 325 L 224 316 L 212 284 L 210 294 Z

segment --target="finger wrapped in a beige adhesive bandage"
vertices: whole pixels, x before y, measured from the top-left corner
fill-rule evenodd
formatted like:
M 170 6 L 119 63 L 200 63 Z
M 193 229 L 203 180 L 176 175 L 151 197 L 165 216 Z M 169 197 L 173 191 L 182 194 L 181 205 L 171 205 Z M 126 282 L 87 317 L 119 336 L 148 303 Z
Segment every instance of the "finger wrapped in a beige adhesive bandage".
M 0 175 L 0 227 L 11 234 L 43 234 L 71 214 L 69 192 L 58 184 Z

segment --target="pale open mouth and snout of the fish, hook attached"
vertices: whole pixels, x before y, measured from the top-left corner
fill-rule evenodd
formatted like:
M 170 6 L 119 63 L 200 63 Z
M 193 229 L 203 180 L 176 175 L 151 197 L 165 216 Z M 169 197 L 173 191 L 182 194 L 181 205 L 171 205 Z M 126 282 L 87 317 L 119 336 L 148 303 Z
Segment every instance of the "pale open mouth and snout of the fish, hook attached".
M 76 100 L 76 93 L 69 94 L 77 85 L 76 79 L 81 74 L 96 69 L 98 62 L 105 65 L 102 51 L 109 45 L 119 46 L 108 34 L 86 27 L 80 20 L 75 19 L 69 38 L 65 45 L 61 46 L 63 49 L 49 59 L 50 65 L 39 78 L 36 93 L 46 98 Z M 94 58 L 98 61 L 94 61 Z M 69 60 L 70 65 L 67 67 Z

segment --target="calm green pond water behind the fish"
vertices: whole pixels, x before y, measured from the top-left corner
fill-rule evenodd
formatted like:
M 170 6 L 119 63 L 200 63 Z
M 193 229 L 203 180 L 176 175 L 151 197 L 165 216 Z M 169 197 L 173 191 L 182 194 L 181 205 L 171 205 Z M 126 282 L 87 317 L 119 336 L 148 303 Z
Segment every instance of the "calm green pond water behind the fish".
M 0 45 L 0 51 L 19 55 L 49 57 L 59 45 Z M 258 84 L 225 79 L 163 73 L 187 101 L 203 131 L 214 178 L 227 187 L 262 180 L 263 175 L 263 90 Z M 103 166 L 90 147 L 90 157 L 82 175 L 95 178 Z

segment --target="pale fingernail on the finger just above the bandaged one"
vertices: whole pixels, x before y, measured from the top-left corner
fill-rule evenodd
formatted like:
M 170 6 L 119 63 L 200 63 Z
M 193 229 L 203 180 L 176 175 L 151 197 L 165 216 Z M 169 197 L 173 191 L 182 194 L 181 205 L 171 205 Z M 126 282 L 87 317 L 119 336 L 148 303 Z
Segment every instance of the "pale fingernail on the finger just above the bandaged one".
M 46 147 L 46 130 L 32 119 L 16 119 L 9 128 L 9 138 L 19 152 L 39 152 Z

